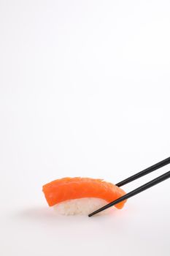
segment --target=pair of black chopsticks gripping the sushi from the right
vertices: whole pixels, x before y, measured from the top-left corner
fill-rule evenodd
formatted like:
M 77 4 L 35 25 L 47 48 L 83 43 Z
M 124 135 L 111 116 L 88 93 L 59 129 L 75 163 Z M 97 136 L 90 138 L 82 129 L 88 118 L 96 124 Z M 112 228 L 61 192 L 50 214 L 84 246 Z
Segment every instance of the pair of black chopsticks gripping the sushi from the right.
M 148 167 L 147 169 L 142 170 L 139 173 L 136 173 L 134 176 L 131 176 L 129 178 L 125 178 L 125 180 L 120 181 L 119 183 L 116 184 L 117 187 L 121 187 L 125 184 L 128 184 L 131 181 L 136 180 L 137 178 L 140 178 L 142 176 L 147 175 L 148 173 L 151 173 L 154 170 L 157 170 L 165 165 L 168 165 L 170 163 L 170 157 L 164 159 L 161 162 L 158 162 L 155 165 L 152 165 L 150 167 Z M 99 208 L 96 211 L 93 211 L 91 214 L 88 215 L 88 217 L 93 216 L 94 214 L 98 214 L 101 211 L 106 210 L 107 208 L 111 207 L 111 206 L 115 206 L 117 203 L 122 202 L 123 200 L 126 200 L 130 197 L 133 197 L 134 195 L 139 194 L 140 192 L 149 189 L 150 187 L 155 186 L 156 184 L 165 181 L 167 178 L 170 178 L 170 171 L 168 171 L 167 173 L 164 173 L 163 175 L 159 176 L 158 178 L 154 178 L 152 181 L 147 182 L 146 184 L 142 185 L 141 187 L 138 187 L 137 189 L 132 190 L 131 192 L 123 195 L 123 197 L 117 198 L 117 200 L 112 201 L 111 203 L 108 203 L 106 206 L 103 206 L 101 208 Z

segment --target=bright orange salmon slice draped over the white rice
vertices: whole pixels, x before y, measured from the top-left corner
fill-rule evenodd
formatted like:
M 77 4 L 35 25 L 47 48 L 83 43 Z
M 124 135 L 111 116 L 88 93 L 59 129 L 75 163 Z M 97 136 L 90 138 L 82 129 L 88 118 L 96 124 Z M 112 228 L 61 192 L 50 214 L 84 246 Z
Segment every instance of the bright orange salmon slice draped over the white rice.
M 82 197 L 97 197 L 106 200 L 108 203 L 125 195 L 123 189 L 112 183 L 96 178 L 60 178 L 42 187 L 49 206 L 54 206 L 65 200 L 72 200 Z M 123 208 L 124 200 L 117 203 L 115 207 Z

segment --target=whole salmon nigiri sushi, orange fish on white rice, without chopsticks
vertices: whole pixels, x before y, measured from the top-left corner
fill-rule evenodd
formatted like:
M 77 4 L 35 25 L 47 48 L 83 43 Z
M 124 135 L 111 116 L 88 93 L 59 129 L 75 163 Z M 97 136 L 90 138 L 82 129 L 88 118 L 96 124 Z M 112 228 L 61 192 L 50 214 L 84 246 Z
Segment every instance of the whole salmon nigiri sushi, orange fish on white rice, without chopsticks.
M 49 206 L 58 214 L 90 214 L 125 195 L 123 189 L 96 178 L 60 178 L 42 187 Z M 115 205 L 121 209 L 125 200 Z

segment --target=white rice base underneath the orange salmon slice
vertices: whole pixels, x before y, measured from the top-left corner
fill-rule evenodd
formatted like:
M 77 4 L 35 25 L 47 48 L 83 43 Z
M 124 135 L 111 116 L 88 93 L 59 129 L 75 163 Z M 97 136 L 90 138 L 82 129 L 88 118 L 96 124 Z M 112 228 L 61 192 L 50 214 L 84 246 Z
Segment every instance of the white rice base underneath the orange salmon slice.
M 108 202 L 101 198 L 84 197 L 80 199 L 66 200 L 62 203 L 57 203 L 53 208 L 57 214 L 63 215 L 88 215 L 98 208 L 105 206 Z M 102 214 L 108 213 L 109 209 L 102 211 Z

